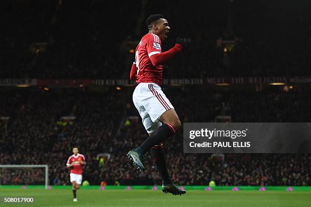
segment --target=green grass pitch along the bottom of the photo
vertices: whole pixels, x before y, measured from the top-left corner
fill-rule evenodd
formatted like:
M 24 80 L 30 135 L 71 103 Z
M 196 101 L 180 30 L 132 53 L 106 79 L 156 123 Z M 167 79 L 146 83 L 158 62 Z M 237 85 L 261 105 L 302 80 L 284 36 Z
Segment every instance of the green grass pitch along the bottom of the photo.
M 185 195 L 163 194 L 161 190 L 86 190 L 77 192 L 73 202 L 67 189 L 1 189 L 0 196 L 34 196 L 34 204 L 0 204 L 1 206 L 212 206 L 264 207 L 311 206 L 311 192 L 281 191 L 204 191 L 188 190 Z

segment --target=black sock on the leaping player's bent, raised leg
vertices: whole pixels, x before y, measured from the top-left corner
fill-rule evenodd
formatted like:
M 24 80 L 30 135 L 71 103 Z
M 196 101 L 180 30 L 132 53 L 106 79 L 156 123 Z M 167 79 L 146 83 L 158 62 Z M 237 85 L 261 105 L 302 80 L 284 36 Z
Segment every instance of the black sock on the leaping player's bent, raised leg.
M 149 136 L 138 148 L 136 151 L 141 154 L 145 154 L 152 146 L 157 145 L 158 143 L 163 142 L 169 136 L 174 133 L 174 128 L 167 124 L 162 125 L 157 130 L 155 130 L 151 136 Z

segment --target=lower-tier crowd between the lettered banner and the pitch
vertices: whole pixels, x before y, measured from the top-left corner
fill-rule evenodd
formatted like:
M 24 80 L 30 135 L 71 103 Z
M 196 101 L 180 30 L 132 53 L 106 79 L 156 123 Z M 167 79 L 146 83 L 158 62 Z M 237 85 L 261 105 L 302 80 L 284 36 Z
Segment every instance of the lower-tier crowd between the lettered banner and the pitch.
M 216 115 L 231 115 L 233 122 L 311 119 L 307 112 L 311 96 L 305 92 L 176 90 L 166 93 L 181 122 L 214 122 Z M 102 181 L 108 185 L 159 184 L 161 178 L 149 153 L 143 173 L 138 173 L 126 157 L 126 152 L 147 137 L 129 94 L 81 89 L 1 92 L 0 116 L 10 119 L 0 126 L 0 163 L 48 164 L 49 183 L 68 185 L 66 161 L 77 145 L 87 162 L 83 179 L 91 185 Z M 187 100 L 182 98 L 185 94 Z M 63 116 L 76 118 L 64 120 Z M 127 121 L 125 117 L 130 118 Z M 172 179 L 181 185 L 208 185 L 211 179 L 216 185 L 311 185 L 309 154 L 225 154 L 224 163 L 216 169 L 208 154 L 182 153 L 182 130 L 164 144 L 164 149 Z M 100 153 L 110 154 L 110 159 L 101 163 Z M 1 185 L 43 184 L 43 180 L 43 169 L 0 170 Z

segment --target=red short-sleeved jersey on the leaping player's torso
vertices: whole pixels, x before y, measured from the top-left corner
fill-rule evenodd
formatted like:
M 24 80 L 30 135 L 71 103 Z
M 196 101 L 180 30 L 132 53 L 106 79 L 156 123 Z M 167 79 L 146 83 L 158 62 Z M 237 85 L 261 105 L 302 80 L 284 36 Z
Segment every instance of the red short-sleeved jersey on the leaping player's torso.
M 136 82 L 151 82 L 162 85 L 162 66 L 153 66 L 150 56 L 161 53 L 161 39 L 152 33 L 146 34 L 139 42 L 135 50 L 135 62 L 137 67 Z

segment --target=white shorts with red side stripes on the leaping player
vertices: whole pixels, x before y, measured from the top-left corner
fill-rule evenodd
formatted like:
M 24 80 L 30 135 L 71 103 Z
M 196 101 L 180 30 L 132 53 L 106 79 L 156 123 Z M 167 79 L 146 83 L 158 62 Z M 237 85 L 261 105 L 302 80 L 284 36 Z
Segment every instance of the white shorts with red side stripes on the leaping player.
M 148 133 L 162 125 L 160 116 L 174 108 L 156 83 L 139 83 L 133 93 L 133 102 Z

